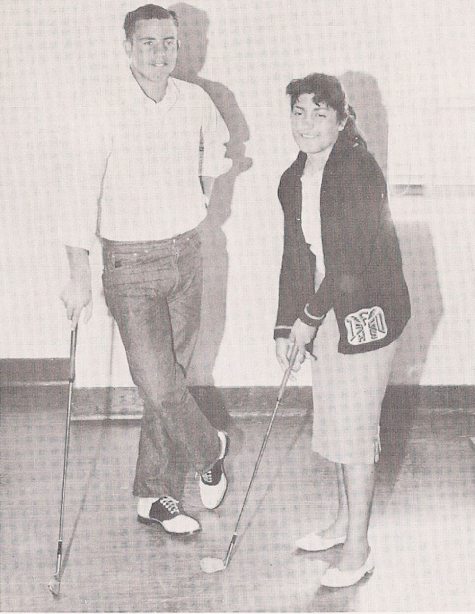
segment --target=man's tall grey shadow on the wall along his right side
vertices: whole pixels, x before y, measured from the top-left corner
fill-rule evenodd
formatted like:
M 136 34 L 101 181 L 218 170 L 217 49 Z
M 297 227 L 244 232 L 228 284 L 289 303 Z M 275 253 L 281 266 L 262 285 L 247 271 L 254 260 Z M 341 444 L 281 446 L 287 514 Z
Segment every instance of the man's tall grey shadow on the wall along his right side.
M 188 370 L 188 384 L 199 406 L 215 428 L 226 430 L 232 422 L 231 417 L 219 391 L 214 386 L 213 379 L 213 367 L 225 327 L 228 286 L 228 252 L 222 225 L 231 214 L 237 175 L 252 166 L 252 160 L 245 157 L 245 142 L 249 141 L 249 128 L 233 93 L 225 85 L 199 76 L 206 60 L 208 44 L 207 33 L 210 22 L 206 12 L 185 2 L 174 4 L 168 9 L 177 15 L 178 36 L 181 41 L 172 76 L 202 87 L 222 115 L 230 133 L 226 157 L 231 158 L 233 166 L 228 173 L 215 181 L 201 232 L 203 250 L 201 324 L 195 353 Z

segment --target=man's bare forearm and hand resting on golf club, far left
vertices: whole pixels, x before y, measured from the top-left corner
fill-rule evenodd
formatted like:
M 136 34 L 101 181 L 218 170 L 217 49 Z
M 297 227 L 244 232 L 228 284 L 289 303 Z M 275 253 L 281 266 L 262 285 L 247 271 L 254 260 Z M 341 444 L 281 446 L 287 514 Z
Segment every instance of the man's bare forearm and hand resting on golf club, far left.
M 61 293 L 61 300 L 66 307 L 66 315 L 71 320 L 71 329 L 77 326 L 79 316 L 84 309 L 84 322 L 92 313 L 91 270 L 89 254 L 82 247 L 66 247 L 69 260 L 70 277 Z

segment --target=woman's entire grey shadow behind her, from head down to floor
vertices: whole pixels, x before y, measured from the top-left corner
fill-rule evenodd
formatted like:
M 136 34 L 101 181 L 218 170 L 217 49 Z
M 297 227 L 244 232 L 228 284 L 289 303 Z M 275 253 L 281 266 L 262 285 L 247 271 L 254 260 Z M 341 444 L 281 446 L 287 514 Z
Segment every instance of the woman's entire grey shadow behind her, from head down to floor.
M 388 122 L 376 79 L 365 72 L 347 71 L 339 80 L 355 109 L 358 129 L 387 176 Z M 396 342 L 390 384 L 380 419 L 380 483 L 392 491 L 406 456 L 407 441 L 419 403 L 418 390 L 433 336 L 442 317 L 442 297 L 430 228 L 424 223 L 396 225 L 404 276 L 411 296 L 412 316 Z M 401 385 L 401 392 L 398 389 Z M 409 387 L 407 386 L 409 385 Z M 407 391 L 409 390 L 409 394 Z

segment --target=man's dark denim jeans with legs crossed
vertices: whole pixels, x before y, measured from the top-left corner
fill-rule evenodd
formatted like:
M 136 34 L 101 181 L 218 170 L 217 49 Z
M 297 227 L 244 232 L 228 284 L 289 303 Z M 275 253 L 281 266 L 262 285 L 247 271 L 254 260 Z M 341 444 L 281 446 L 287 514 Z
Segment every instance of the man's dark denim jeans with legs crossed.
M 106 303 L 117 322 L 144 402 L 134 495 L 180 499 L 190 465 L 204 473 L 219 456 L 217 431 L 186 386 L 203 286 L 196 231 L 173 239 L 102 239 Z

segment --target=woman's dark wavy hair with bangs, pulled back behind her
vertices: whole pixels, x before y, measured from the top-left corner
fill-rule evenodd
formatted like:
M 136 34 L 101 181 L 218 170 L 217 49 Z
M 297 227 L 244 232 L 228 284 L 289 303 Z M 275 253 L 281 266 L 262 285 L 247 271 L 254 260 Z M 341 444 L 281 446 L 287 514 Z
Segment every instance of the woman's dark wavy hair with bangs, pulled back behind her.
M 366 149 L 366 141 L 361 136 L 356 125 L 355 111 L 347 103 L 346 94 L 336 77 L 323 74 L 322 72 L 313 72 L 307 75 L 307 77 L 303 77 L 303 79 L 293 79 L 285 88 L 285 93 L 290 96 L 291 109 L 293 109 L 299 96 L 302 94 L 313 94 L 315 104 L 325 103 L 336 111 L 338 123 L 346 120 L 342 134 L 350 141 L 357 142 Z

